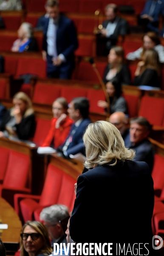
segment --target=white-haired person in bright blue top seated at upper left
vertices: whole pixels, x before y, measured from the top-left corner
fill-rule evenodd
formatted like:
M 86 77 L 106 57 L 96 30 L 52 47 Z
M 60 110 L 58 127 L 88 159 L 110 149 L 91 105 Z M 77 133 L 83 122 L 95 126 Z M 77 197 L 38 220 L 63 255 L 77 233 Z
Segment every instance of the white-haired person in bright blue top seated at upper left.
M 33 27 L 28 22 L 23 22 L 18 29 L 18 39 L 14 41 L 12 52 L 38 51 L 37 41 L 33 36 Z

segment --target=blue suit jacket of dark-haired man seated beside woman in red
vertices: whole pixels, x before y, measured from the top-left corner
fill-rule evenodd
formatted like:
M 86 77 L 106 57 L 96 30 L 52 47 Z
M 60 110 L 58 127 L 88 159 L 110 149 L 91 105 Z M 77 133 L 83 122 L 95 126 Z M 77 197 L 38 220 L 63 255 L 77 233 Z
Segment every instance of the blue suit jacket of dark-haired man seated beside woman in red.
M 82 120 L 82 122 L 80 123 L 79 127 L 77 127 L 76 132 L 74 133 L 73 137 L 72 137 L 72 142 L 68 145 L 68 148 L 66 150 L 68 156 L 70 154 L 77 154 L 77 153 L 82 153 L 84 154 L 85 152 L 85 148 L 84 148 L 84 143 L 82 140 L 82 136 L 85 132 L 85 129 L 87 128 L 88 124 L 91 123 L 91 120 L 89 118 L 85 118 Z M 71 131 L 68 135 L 68 137 L 70 136 L 71 132 L 74 130 L 74 124 L 72 125 Z M 67 139 L 68 139 L 67 137 Z M 66 140 L 67 140 L 66 139 Z M 65 142 L 66 142 L 65 140 Z M 65 145 L 65 143 L 63 143 L 63 146 Z

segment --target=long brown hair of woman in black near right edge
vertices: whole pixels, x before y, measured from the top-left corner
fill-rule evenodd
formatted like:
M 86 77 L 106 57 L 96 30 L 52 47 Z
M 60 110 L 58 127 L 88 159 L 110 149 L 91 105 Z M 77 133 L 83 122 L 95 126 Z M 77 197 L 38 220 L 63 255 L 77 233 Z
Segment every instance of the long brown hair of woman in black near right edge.
M 144 72 L 145 69 L 151 68 L 153 70 L 156 70 L 158 73 L 158 76 L 161 74 L 161 65 L 159 62 L 159 56 L 158 52 L 154 49 L 149 49 L 144 52 L 144 55 L 142 56 L 142 59 L 144 61 L 144 65 L 141 67 L 140 75 Z

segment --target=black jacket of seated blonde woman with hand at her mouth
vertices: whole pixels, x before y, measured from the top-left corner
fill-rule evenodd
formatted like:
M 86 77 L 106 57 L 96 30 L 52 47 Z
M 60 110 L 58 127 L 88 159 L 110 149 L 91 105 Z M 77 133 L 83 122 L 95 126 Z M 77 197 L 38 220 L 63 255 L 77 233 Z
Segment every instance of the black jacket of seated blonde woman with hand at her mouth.
M 5 130 L 7 122 L 11 119 L 11 110 L 9 109 L 0 124 L 0 131 Z M 17 136 L 20 140 L 28 140 L 34 136 L 35 131 L 35 117 L 34 114 L 23 117 L 19 124 L 15 125 Z

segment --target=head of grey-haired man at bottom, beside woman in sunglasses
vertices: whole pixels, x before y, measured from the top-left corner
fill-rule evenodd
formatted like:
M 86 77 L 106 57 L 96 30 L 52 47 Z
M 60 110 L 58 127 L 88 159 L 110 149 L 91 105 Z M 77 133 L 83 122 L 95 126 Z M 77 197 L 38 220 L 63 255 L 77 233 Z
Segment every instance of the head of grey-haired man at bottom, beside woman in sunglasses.
M 40 220 L 43 221 L 48 230 L 48 234 L 52 240 L 52 247 L 54 243 L 67 244 L 65 231 L 67 230 L 69 218 L 68 207 L 62 204 L 54 204 L 42 209 L 42 212 L 40 212 Z

